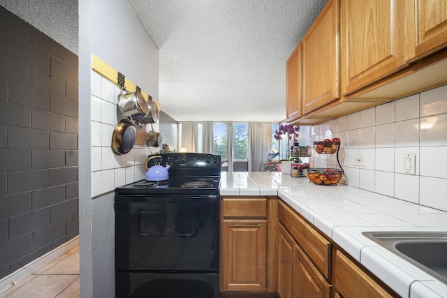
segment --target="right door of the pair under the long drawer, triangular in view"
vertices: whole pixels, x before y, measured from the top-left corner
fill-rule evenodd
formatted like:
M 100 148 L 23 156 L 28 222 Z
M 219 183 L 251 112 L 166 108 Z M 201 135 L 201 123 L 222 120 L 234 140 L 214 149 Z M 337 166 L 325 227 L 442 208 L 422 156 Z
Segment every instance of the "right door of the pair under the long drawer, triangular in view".
M 307 258 L 299 246 L 295 246 L 295 297 L 329 298 L 331 286 Z

